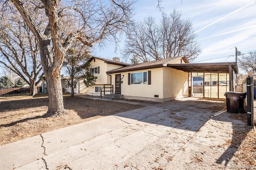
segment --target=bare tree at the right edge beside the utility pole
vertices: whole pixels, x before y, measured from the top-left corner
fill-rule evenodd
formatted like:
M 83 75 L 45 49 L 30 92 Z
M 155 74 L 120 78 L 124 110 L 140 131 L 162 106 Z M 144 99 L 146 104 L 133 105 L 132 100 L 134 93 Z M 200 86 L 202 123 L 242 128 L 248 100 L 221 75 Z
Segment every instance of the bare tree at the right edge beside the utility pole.
M 238 66 L 246 71 L 247 75 L 256 75 L 256 51 L 240 55 Z

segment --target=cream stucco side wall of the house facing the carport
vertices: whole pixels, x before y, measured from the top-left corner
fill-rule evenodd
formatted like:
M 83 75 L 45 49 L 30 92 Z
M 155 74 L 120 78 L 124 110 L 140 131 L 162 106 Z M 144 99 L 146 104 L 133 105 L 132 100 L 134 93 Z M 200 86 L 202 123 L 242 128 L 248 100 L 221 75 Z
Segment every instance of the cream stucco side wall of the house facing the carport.
M 164 67 L 163 77 L 165 99 L 179 98 L 188 95 L 188 73 Z

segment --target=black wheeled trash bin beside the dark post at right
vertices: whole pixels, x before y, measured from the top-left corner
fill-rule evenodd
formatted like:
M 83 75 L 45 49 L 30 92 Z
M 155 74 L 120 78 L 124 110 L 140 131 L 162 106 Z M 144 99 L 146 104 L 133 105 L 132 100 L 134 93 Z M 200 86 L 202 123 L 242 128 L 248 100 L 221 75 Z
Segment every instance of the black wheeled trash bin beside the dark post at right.
M 228 113 L 245 113 L 244 99 L 247 93 L 229 91 L 225 93 Z

